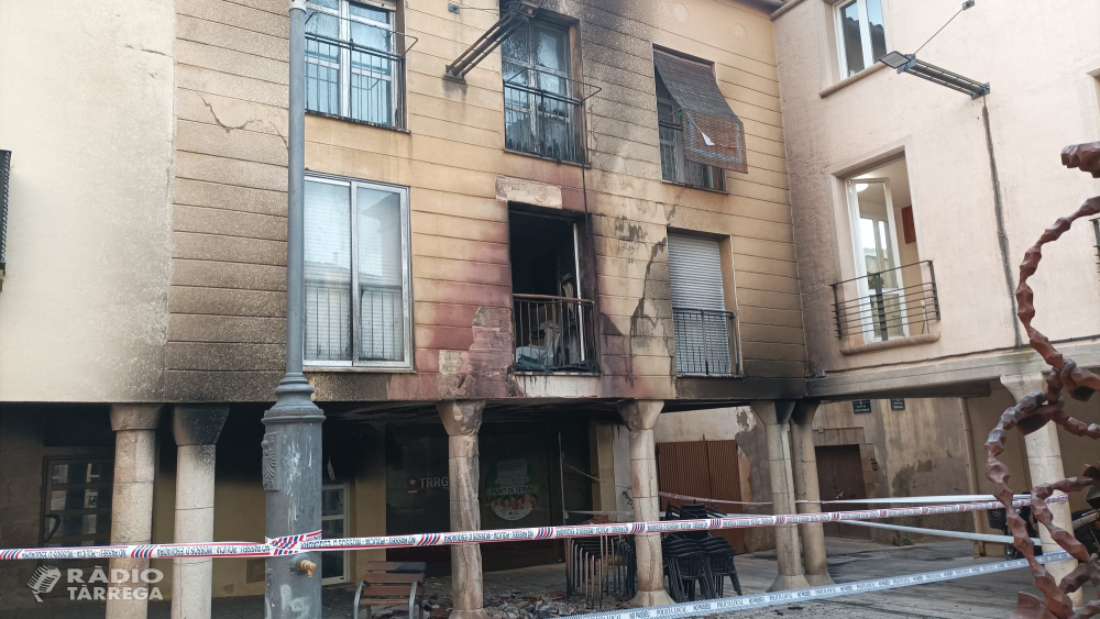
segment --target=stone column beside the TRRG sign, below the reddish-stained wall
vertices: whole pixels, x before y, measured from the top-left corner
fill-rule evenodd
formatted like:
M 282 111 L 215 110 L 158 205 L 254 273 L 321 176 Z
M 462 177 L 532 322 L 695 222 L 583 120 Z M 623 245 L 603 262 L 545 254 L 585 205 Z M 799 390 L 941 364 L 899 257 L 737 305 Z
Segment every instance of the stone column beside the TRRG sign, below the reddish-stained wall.
M 448 435 L 448 468 L 451 494 L 451 531 L 481 529 L 481 504 L 477 483 L 477 430 L 481 429 L 485 400 L 457 400 L 436 404 Z M 481 546 L 451 546 L 452 619 L 488 619 L 482 598 Z

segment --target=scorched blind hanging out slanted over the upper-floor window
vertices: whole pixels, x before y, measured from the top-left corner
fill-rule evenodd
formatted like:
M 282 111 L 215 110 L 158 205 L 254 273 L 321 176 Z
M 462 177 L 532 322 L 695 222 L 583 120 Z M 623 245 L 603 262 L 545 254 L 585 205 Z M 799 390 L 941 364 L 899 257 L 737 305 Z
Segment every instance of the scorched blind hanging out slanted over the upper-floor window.
M 688 161 L 734 172 L 748 172 L 745 125 L 726 103 L 710 66 L 662 52 L 653 63 L 675 99 L 684 130 Z

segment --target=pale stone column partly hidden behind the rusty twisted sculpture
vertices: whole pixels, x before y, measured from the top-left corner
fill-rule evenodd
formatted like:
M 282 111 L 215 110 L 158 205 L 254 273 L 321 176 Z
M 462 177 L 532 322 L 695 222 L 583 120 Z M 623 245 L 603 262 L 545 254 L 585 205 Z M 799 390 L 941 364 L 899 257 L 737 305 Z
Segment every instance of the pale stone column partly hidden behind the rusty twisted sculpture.
M 1001 376 L 1001 385 L 1012 394 L 1015 401 L 1020 401 L 1032 391 L 1046 391 L 1046 379 L 1043 373 L 1018 374 L 1012 376 Z M 1058 427 L 1047 423 L 1040 430 L 1024 436 L 1024 450 L 1027 452 L 1027 468 L 1031 472 L 1032 484 L 1050 484 L 1066 477 L 1066 471 L 1062 465 L 1062 442 L 1058 440 Z M 1030 493 L 1031 488 L 1019 488 L 1018 493 Z M 1062 495 L 1063 493 L 1056 493 Z M 1055 504 L 1050 506 L 1054 516 L 1054 523 L 1065 529 L 1074 531 L 1074 519 L 1070 516 L 1069 502 Z M 1050 538 L 1046 527 L 1040 526 L 1040 539 L 1043 541 L 1043 552 L 1056 552 L 1062 546 Z M 1077 562 L 1074 560 L 1059 561 L 1058 563 L 1047 563 L 1046 571 L 1059 582 L 1074 568 Z M 1070 594 L 1074 607 L 1078 608 L 1085 604 L 1085 594 L 1080 589 Z

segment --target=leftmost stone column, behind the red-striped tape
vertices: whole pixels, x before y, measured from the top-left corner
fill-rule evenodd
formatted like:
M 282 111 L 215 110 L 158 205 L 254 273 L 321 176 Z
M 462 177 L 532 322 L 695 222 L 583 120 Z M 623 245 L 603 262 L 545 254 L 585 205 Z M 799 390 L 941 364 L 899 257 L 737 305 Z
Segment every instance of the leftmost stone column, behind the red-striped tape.
M 156 428 L 161 405 L 113 405 L 114 487 L 111 496 L 111 543 L 147 544 L 153 538 L 153 477 L 156 473 Z M 145 619 L 148 615 L 148 585 L 131 582 L 133 571 L 148 570 L 147 559 L 112 559 L 111 587 L 120 599 L 107 600 L 107 619 Z M 116 570 L 127 574 L 116 579 Z M 123 589 L 130 589 L 129 595 Z M 138 599 L 138 597 L 141 599 Z M 129 599 L 123 599 L 129 598 Z

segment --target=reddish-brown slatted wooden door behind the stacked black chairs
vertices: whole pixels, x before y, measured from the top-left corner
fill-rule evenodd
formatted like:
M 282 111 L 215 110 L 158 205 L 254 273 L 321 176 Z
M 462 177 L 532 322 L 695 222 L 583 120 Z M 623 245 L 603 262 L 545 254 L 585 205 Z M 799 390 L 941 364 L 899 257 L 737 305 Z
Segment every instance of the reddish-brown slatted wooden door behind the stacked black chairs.
M 657 444 L 657 485 L 662 493 L 708 499 L 741 500 L 741 476 L 737 468 L 737 441 L 691 441 Z M 697 501 L 661 497 L 661 509 L 669 505 Z M 710 504 L 726 513 L 740 513 L 739 505 Z M 743 529 L 711 531 L 725 538 L 737 552 L 745 552 Z

